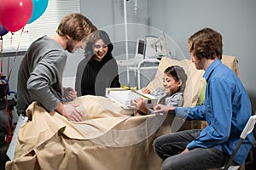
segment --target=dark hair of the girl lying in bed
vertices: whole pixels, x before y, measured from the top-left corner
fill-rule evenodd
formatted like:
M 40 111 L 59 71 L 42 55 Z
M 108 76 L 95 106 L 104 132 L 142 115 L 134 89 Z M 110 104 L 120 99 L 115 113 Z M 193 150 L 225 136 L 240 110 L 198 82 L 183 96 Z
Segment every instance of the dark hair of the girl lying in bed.
M 187 75 L 183 69 L 183 67 L 179 65 L 172 65 L 166 68 L 164 71 L 166 75 L 173 77 L 175 81 L 182 82 L 182 85 L 179 87 L 179 92 L 184 92 L 186 88 Z

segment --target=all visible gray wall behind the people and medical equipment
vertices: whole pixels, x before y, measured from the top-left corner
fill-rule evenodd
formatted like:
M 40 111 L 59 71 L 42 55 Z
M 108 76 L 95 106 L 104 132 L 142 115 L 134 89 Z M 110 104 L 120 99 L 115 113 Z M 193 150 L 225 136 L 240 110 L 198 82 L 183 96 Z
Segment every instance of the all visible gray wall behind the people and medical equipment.
M 98 28 L 122 27 L 124 24 L 123 2 L 123 0 L 81 0 L 81 13 Z M 206 26 L 219 31 L 223 35 L 224 54 L 236 55 L 239 61 L 241 81 L 250 95 L 253 111 L 256 110 L 255 0 L 137 0 L 137 13 L 134 8 L 135 0 L 129 0 L 126 4 L 127 21 L 138 24 L 133 26 L 132 31 L 129 30 L 129 38 L 147 35 L 148 27 L 163 30 L 177 42 L 187 58 L 189 58 L 187 39 L 190 35 Z M 137 28 L 146 30 L 137 32 L 140 30 Z M 121 57 L 125 54 L 125 44 L 119 41 L 119 35 L 124 35 L 124 29 L 113 31 L 111 37 L 113 42 L 117 41 L 114 53 Z M 129 53 L 135 52 L 135 45 L 132 43 L 129 48 Z M 21 58 L 22 55 L 17 56 L 15 64 L 10 66 L 13 71 L 9 83 L 14 90 Z M 64 77 L 75 75 L 76 66 L 82 58 L 81 52 L 68 58 Z M 4 59 L 8 58 L 4 57 Z M 7 60 L 4 63 L 7 63 Z

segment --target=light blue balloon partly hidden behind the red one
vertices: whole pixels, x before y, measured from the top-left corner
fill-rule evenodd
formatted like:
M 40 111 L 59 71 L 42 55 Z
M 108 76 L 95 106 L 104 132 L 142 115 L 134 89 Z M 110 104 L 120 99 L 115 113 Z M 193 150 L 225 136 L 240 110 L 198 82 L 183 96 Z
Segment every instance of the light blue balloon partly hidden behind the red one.
M 44 14 L 44 11 L 48 6 L 48 0 L 32 0 L 32 5 L 32 16 L 27 24 L 32 23 L 34 20 L 37 20 L 42 14 Z

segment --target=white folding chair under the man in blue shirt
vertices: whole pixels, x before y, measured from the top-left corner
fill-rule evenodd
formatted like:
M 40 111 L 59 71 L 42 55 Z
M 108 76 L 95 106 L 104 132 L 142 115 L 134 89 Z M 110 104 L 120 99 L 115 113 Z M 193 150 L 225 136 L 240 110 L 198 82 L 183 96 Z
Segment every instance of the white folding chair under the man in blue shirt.
M 247 134 L 251 133 L 253 131 L 253 127 L 256 124 L 256 115 L 253 115 L 249 118 L 247 125 L 244 127 L 243 131 L 241 132 L 239 142 L 236 144 L 236 149 L 233 151 L 232 155 L 230 156 L 230 159 L 228 163 L 225 165 L 224 170 L 236 170 L 239 168 L 239 166 L 230 166 L 234 157 L 236 156 L 237 150 L 239 150 L 241 143 L 244 139 L 246 139 Z

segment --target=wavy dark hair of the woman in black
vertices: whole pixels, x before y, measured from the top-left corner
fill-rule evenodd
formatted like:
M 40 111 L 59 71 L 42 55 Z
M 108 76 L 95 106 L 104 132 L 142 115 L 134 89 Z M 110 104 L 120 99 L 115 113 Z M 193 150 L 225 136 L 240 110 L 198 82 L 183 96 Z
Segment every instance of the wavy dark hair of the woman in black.
M 102 39 L 104 43 L 108 44 L 108 52 L 106 55 L 111 54 L 113 50 L 113 43 L 110 41 L 108 33 L 106 31 L 98 30 L 93 33 L 90 40 L 86 43 L 84 49 L 84 56 L 86 58 L 91 59 L 94 56 L 93 46 L 100 39 Z

